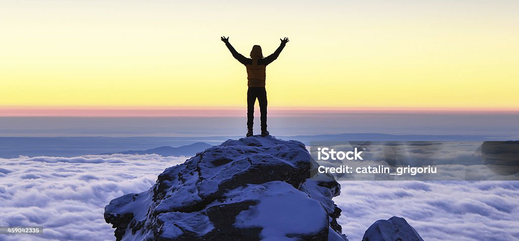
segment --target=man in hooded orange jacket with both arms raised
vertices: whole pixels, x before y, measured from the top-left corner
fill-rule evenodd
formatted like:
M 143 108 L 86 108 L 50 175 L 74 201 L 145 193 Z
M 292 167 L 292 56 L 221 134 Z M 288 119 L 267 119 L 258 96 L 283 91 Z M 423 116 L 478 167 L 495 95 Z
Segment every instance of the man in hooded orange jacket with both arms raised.
M 245 65 L 247 68 L 247 86 L 249 89 L 247 90 L 247 137 L 253 135 L 252 126 L 254 123 L 254 104 L 256 103 L 256 98 L 260 103 L 260 113 L 261 113 L 261 135 L 262 137 L 268 136 L 269 132 L 267 131 L 267 90 L 265 89 L 265 76 L 266 76 L 266 66 L 272 61 L 276 60 L 281 53 L 281 50 L 285 47 L 286 43 L 289 42 L 288 38 L 279 39 L 281 44 L 278 49 L 274 51 L 271 55 L 263 58 L 263 53 L 260 45 L 252 46 L 251 50 L 251 58 L 246 58 L 241 55 L 239 52 L 234 49 L 232 45 L 229 43 L 229 37 L 222 36 L 222 41 L 225 43 L 225 46 L 229 49 L 229 51 L 233 54 L 233 57 L 237 59 L 240 63 Z

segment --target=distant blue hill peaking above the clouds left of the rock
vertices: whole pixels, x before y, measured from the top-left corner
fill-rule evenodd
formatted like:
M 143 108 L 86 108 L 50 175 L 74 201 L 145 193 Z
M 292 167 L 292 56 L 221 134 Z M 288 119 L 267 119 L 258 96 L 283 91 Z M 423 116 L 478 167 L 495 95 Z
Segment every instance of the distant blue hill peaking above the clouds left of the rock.
M 179 147 L 172 146 L 160 146 L 159 148 L 148 149 L 144 151 L 125 151 L 125 152 L 114 152 L 114 153 L 103 153 L 102 155 L 110 154 L 131 154 L 131 155 L 144 155 L 144 154 L 158 154 L 161 156 L 193 156 L 197 152 L 201 152 L 210 148 L 212 145 L 205 142 L 196 142 L 189 145 L 183 145 Z

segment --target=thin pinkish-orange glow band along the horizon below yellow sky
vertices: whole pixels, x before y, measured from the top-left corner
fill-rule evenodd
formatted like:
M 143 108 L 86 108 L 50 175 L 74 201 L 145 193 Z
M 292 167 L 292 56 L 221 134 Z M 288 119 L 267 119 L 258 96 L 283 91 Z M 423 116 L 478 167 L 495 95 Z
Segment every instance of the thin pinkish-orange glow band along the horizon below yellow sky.
M 257 106 L 256 106 L 257 107 Z M 0 106 L 0 117 L 239 117 L 244 106 Z M 316 114 L 519 114 L 513 108 L 311 108 L 273 106 L 269 116 L 307 116 Z

